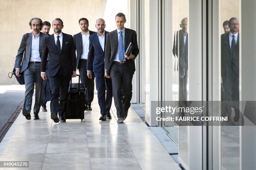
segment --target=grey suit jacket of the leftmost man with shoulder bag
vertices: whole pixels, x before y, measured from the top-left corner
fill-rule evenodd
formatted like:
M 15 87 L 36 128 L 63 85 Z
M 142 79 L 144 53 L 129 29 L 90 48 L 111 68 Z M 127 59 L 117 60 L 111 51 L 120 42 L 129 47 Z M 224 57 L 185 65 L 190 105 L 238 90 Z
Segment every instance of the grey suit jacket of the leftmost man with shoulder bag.
M 25 52 L 24 56 L 23 56 L 23 50 L 24 50 L 27 34 L 24 34 L 22 36 L 22 39 L 20 42 L 20 47 L 18 49 L 18 53 L 16 55 L 15 65 L 14 65 L 14 68 L 20 68 L 20 72 L 23 72 L 28 67 L 28 62 L 29 62 L 30 55 L 31 55 L 32 36 L 33 36 L 33 32 L 29 33 L 27 46 L 26 46 L 26 52 Z M 40 32 L 40 34 L 39 34 L 39 53 L 40 53 L 41 58 L 42 58 L 42 43 L 43 43 L 44 38 L 47 36 L 48 35 L 44 34 L 43 32 Z M 20 66 L 21 62 L 22 62 L 22 65 Z

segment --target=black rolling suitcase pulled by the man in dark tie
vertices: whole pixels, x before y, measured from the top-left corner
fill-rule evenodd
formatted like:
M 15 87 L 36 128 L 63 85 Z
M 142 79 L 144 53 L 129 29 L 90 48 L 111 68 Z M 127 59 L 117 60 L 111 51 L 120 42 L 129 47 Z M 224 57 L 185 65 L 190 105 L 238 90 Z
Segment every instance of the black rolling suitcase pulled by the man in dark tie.
M 67 99 L 67 112 L 65 113 L 66 119 L 84 119 L 85 110 L 85 87 L 80 83 L 80 75 L 78 83 L 72 83 L 70 80 L 68 99 Z

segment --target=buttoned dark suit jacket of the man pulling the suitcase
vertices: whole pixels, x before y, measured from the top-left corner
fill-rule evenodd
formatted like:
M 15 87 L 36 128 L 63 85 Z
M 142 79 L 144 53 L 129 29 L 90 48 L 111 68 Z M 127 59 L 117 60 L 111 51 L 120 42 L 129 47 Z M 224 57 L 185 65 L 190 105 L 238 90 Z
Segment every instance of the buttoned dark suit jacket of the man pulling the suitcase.
M 49 53 L 48 75 L 55 76 L 59 70 L 63 76 L 71 76 L 76 70 L 76 53 L 74 50 L 74 40 L 72 35 L 62 32 L 62 47 L 59 53 L 54 34 L 46 37 L 43 42 L 43 54 L 41 62 L 41 72 L 46 70 L 47 56 Z

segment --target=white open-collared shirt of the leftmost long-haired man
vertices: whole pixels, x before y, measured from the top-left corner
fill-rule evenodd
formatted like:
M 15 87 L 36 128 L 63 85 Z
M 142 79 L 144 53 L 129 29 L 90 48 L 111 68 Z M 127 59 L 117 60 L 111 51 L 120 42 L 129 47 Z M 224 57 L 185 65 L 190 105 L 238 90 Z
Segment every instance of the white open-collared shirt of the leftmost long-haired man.
M 34 37 L 33 33 L 32 33 L 32 44 L 31 44 L 31 53 L 30 53 L 30 62 L 41 62 L 41 57 L 40 57 L 40 53 L 39 53 L 39 34 Z

